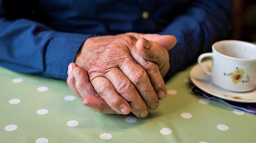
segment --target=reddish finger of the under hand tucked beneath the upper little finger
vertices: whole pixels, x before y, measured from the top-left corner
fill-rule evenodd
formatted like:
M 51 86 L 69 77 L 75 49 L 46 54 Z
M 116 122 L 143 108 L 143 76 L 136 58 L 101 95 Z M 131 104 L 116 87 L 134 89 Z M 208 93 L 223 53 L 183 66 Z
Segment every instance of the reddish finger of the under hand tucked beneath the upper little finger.
M 91 107 L 96 112 L 107 114 L 120 114 L 109 107 L 109 105 L 99 96 L 89 96 L 83 99 L 83 105 Z

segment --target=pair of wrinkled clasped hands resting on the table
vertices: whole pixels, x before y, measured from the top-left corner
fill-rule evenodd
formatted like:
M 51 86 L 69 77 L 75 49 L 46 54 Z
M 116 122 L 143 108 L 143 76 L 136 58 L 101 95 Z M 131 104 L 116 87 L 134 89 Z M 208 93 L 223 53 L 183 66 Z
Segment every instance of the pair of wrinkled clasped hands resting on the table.
M 88 38 L 68 67 L 67 83 L 97 112 L 146 117 L 166 96 L 171 35 L 126 33 Z

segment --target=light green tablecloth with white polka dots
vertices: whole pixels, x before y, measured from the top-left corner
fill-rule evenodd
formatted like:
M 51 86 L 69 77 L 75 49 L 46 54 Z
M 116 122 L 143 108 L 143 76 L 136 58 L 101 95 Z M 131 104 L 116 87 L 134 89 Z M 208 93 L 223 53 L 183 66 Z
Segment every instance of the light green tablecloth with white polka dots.
M 0 68 L 0 141 L 256 142 L 255 116 L 189 94 L 191 68 L 166 83 L 146 118 L 95 112 L 73 100 L 66 81 Z

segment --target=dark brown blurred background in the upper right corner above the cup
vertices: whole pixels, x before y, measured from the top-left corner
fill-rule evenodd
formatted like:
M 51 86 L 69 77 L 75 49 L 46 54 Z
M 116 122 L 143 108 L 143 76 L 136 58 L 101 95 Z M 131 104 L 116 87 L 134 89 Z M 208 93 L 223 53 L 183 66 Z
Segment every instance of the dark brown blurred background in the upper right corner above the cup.
M 234 0 L 231 39 L 256 42 L 256 0 Z

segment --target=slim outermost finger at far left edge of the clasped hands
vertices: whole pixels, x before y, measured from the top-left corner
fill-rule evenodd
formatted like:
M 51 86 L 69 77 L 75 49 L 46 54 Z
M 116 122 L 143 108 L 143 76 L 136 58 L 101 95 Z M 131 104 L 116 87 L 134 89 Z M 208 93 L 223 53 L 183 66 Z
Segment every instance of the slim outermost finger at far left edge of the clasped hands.
M 79 92 L 77 91 L 77 88 L 75 87 L 75 77 L 74 77 L 74 74 L 73 74 L 73 68 L 74 67 L 78 67 L 78 65 L 75 64 L 75 63 L 70 63 L 69 66 L 68 66 L 67 84 L 68 84 L 69 88 L 72 90 L 72 92 L 82 101 L 83 98 L 79 94 Z

